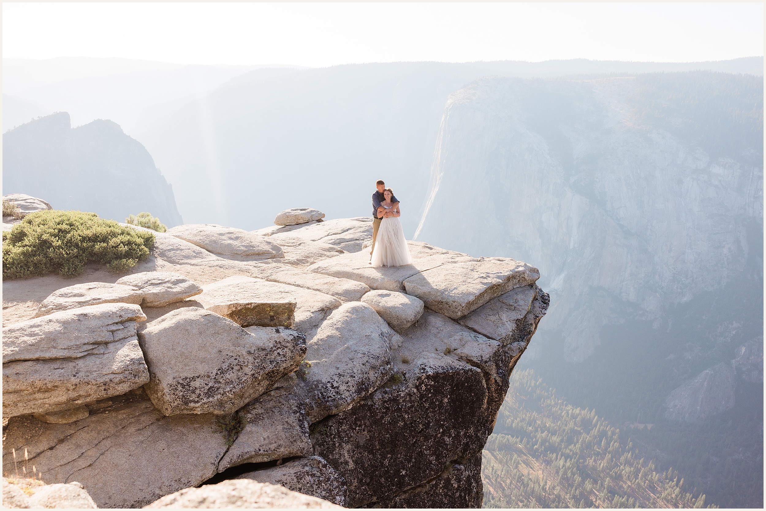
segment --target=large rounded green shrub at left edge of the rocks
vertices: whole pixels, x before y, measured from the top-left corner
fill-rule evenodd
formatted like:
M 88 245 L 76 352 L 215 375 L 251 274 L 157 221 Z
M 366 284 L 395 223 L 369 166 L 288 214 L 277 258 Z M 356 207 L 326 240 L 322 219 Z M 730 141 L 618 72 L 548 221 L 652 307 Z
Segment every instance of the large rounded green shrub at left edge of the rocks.
M 61 210 L 30 213 L 2 239 L 2 278 L 78 275 L 90 262 L 125 272 L 146 259 L 154 246 L 152 233 L 103 220 L 96 213 Z

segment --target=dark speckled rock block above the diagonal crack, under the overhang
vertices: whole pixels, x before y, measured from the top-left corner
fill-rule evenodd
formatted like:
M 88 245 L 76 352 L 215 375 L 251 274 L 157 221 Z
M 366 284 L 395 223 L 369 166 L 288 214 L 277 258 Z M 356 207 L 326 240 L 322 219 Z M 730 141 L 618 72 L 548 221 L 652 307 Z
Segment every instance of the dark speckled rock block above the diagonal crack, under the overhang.
M 391 500 L 481 450 L 491 432 L 486 385 L 463 365 L 413 375 L 312 428 L 314 451 L 345 478 L 349 506 Z

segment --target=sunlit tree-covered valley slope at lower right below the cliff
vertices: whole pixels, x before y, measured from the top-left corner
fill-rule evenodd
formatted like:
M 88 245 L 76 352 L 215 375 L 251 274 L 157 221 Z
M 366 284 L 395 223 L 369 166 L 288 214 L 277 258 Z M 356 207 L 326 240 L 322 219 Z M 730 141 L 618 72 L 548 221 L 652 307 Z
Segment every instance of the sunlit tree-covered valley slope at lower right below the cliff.
M 532 369 L 511 376 L 482 480 L 484 507 L 705 507 L 703 489 L 657 470 L 625 431 L 568 405 Z

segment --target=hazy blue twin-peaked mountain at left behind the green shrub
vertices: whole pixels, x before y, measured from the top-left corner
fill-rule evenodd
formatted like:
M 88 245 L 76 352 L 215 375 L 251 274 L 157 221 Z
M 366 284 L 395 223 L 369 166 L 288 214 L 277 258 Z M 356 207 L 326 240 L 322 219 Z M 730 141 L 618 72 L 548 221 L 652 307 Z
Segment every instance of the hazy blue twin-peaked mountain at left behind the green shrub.
M 47 197 L 58 210 L 93 211 L 122 222 L 149 211 L 162 223 L 182 223 L 172 187 L 152 156 L 114 122 L 70 127 L 58 112 L 3 135 L 3 190 Z

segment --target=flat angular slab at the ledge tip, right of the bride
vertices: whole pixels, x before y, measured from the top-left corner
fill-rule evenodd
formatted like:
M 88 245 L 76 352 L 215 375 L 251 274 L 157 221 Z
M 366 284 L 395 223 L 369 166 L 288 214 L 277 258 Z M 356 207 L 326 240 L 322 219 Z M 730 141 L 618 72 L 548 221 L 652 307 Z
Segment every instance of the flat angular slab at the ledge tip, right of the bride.
M 457 319 L 513 288 L 534 284 L 538 278 L 540 272 L 532 265 L 489 257 L 424 270 L 405 280 L 404 288 L 427 308 Z

